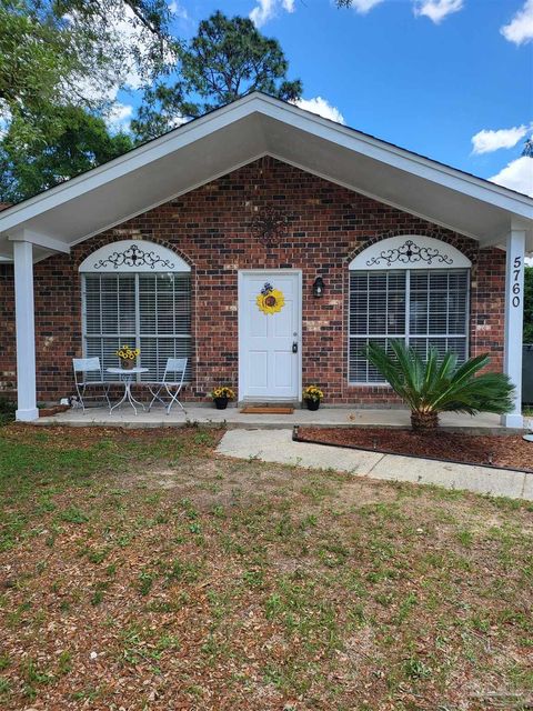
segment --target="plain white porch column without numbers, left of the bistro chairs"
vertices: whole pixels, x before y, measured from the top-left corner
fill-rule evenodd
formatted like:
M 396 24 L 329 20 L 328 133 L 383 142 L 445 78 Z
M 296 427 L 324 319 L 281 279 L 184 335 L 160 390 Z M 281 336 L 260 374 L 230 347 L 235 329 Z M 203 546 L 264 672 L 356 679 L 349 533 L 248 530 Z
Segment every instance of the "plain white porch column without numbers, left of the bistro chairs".
M 17 420 L 37 420 L 33 246 L 13 241 L 17 327 Z

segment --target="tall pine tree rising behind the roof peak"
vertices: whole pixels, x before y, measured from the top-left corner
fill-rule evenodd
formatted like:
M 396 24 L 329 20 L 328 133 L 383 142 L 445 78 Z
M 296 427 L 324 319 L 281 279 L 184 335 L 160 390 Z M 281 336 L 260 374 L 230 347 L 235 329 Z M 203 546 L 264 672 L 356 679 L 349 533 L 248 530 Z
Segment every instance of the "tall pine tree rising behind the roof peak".
M 289 81 L 288 69 L 276 40 L 261 34 L 248 18 L 215 12 L 200 22 L 198 34 L 181 47 L 179 63 L 147 88 L 132 130 L 139 139 L 153 138 L 185 118 L 254 90 L 280 99 L 298 99 L 302 83 Z

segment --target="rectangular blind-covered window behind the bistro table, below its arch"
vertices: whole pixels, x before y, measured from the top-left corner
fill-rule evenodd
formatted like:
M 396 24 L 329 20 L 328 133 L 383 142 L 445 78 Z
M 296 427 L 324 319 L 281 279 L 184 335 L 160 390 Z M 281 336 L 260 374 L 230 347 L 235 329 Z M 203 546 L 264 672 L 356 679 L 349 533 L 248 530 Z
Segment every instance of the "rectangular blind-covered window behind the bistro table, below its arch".
M 189 358 L 191 380 L 191 280 L 181 272 L 82 276 L 83 354 L 98 356 L 103 369 L 119 364 L 117 350 L 139 348 L 139 378 L 159 381 L 168 358 Z M 105 380 L 117 380 L 104 374 Z

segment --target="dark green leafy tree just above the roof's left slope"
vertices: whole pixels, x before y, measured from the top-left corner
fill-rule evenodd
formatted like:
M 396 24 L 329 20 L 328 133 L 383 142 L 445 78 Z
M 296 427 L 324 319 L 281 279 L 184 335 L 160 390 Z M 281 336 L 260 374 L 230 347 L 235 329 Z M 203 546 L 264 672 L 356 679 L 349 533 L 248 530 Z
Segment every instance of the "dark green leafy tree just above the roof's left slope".
M 129 136 L 111 136 L 102 118 L 81 107 L 57 107 L 40 118 L 40 134 L 20 143 L 18 119 L 0 144 L 0 201 L 19 202 L 133 147 Z

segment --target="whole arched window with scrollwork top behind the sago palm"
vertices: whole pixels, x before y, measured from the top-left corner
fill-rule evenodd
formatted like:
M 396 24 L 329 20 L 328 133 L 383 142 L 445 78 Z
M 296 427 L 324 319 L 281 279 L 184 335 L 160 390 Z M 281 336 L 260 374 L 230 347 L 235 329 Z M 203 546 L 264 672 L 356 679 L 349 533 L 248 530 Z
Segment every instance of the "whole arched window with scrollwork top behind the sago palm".
M 404 340 L 423 357 L 430 347 L 469 354 L 471 261 L 457 249 L 421 236 L 372 244 L 350 269 L 349 381 L 380 383 L 364 358 L 374 341 Z

